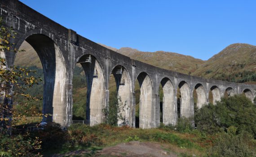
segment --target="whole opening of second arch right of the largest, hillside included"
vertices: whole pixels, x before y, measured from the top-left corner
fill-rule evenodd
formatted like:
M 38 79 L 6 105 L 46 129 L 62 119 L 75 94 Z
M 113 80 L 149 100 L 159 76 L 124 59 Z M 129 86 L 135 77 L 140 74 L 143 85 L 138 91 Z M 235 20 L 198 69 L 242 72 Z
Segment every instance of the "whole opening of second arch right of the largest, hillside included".
M 111 79 L 112 78 L 112 79 Z M 115 79 L 115 82 L 114 82 Z M 109 80 L 110 105 L 117 107 L 116 124 L 132 126 L 131 119 L 131 80 L 128 71 L 122 65 L 112 70 Z

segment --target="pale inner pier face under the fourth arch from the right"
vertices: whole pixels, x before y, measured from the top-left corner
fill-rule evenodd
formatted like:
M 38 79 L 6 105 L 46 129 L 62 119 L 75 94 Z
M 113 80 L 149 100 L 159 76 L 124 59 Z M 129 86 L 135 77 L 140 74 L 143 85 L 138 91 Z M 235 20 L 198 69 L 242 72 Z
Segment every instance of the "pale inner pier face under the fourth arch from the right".
M 201 107 L 203 107 L 203 105 L 207 104 L 205 88 L 203 87 L 203 85 L 201 83 L 198 83 L 195 85 L 194 89 L 195 89 L 196 95 L 197 95 L 197 104 L 196 105 L 197 105 L 198 109 L 200 109 Z

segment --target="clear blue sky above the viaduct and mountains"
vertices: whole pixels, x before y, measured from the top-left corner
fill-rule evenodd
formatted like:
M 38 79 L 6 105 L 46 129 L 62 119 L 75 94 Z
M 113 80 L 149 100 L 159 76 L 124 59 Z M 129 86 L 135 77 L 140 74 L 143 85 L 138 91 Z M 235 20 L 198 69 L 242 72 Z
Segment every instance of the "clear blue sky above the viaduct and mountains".
M 207 60 L 256 45 L 256 0 L 20 0 L 97 43 Z

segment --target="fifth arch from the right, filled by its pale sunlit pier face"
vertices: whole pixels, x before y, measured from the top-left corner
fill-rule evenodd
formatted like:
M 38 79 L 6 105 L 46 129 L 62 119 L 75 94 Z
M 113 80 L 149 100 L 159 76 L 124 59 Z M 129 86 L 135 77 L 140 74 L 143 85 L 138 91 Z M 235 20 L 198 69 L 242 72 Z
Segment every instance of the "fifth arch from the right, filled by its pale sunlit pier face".
M 190 87 L 185 81 L 181 81 L 178 87 L 181 91 L 180 117 L 192 117 L 194 115 L 194 105 L 191 105 Z

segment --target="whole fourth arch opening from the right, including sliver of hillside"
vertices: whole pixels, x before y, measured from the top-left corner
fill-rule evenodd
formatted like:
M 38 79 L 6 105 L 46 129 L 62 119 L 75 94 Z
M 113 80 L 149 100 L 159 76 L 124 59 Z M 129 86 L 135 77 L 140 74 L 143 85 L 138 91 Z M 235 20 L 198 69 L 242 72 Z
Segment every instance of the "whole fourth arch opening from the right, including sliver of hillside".
M 195 85 L 193 90 L 194 105 L 196 109 L 200 109 L 207 104 L 206 92 L 202 84 Z

